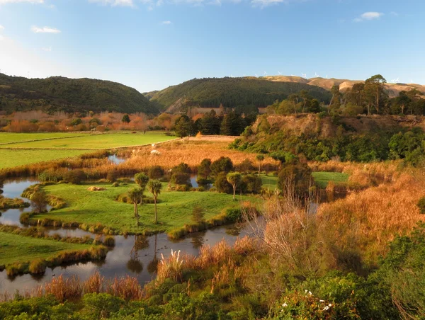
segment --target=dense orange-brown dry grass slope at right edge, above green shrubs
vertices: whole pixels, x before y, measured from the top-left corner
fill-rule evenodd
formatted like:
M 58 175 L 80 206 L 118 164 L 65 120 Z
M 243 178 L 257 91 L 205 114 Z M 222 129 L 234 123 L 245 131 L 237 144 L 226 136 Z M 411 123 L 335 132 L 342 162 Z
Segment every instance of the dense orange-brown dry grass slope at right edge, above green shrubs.
M 390 168 L 379 172 L 391 173 Z M 407 233 L 425 221 L 416 206 L 425 195 L 423 173 L 404 171 L 392 180 L 319 206 L 319 218 L 332 226 L 329 232 L 334 233 L 336 243 L 341 248 L 357 246 L 369 262 L 385 253 L 396 234 Z

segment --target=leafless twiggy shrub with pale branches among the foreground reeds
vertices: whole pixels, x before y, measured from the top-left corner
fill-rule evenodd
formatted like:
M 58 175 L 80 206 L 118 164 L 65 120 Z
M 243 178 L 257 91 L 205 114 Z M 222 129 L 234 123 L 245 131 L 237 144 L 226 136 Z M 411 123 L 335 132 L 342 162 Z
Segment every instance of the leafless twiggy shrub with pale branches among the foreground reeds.
M 301 273 L 317 272 L 323 242 L 315 202 L 317 196 L 311 191 L 304 198 L 298 196 L 295 181 L 288 177 L 281 196 L 266 202 L 263 215 L 244 212 L 253 236 L 266 247 L 272 262 L 285 261 L 289 268 Z

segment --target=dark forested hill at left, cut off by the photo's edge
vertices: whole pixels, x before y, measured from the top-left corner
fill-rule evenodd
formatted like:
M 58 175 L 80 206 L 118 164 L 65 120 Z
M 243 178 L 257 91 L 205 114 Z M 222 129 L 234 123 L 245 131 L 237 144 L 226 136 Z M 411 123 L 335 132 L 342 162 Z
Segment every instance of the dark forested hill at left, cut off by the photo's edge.
M 0 74 L 0 111 L 28 110 L 148 114 L 159 111 L 142 93 L 116 82 L 62 76 L 27 79 Z

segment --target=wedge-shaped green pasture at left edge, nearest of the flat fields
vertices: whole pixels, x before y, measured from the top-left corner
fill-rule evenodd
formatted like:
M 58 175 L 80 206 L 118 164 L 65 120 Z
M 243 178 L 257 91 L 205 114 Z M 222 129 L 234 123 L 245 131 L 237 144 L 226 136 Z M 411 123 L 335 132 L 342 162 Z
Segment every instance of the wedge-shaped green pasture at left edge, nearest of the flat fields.
M 10 150 L 0 149 L 0 169 L 35 164 L 41 161 L 69 158 L 86 153 L 86 150 Z

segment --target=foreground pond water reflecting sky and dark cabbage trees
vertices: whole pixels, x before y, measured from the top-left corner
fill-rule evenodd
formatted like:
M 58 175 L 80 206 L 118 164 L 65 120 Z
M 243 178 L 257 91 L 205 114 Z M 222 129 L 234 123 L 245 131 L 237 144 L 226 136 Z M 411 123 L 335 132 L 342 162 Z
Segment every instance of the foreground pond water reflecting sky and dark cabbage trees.
M 69 232 L 68 234 L 70 236 L 89 234 L 78 229 L 61 230 L 60 234 L 62 232 Z M 52 230 L 49 233 L 54 233 L 54 231 Z M 184 253 L 198 255 L 200 246 L 213 246 L 222 239 L 225 239 L 229 245 L 233 245 L 237 239 L 237 234 L 244 236 L 247 232 L 244 229 L 236 230 L 235 232 L 234 227 L 218 227 L 206 232 L 191 234 L 179 241 L 170 241 L 166 234 L 157 234 L 156 236 L 149 236 L 147 238 L 141 236 L 115 236 L 115 247 L 108 252 L 105 261 L 78 263 L 67 267 L 57 267 L 53 270 L 47 268 L 45 275 L 38 277 L 20 275 L 11 279 L 7 277 L 5 271 L 0 273 L 0 294 L 5 291 L 13 293 L 16 290 L 20 290 L 21 292 L 33 290 L 38 285 L 48 282 L 54 276 L 57 277 L 59 275 L 67 277 L 77 275 L 81 280 L 86 280 L 96 270 L 106 278 L 114 278 L 115 276 L 123 277 L 126 275 L 137 277 L 143 285 L 155 277 L 151 267 L 155 259 L 161 258 L 161 254 L 169 256 L 171 249 L 173 249 L 174 251 L 180 250 Z M 135 250 L 135 246 L 139 250 Z

